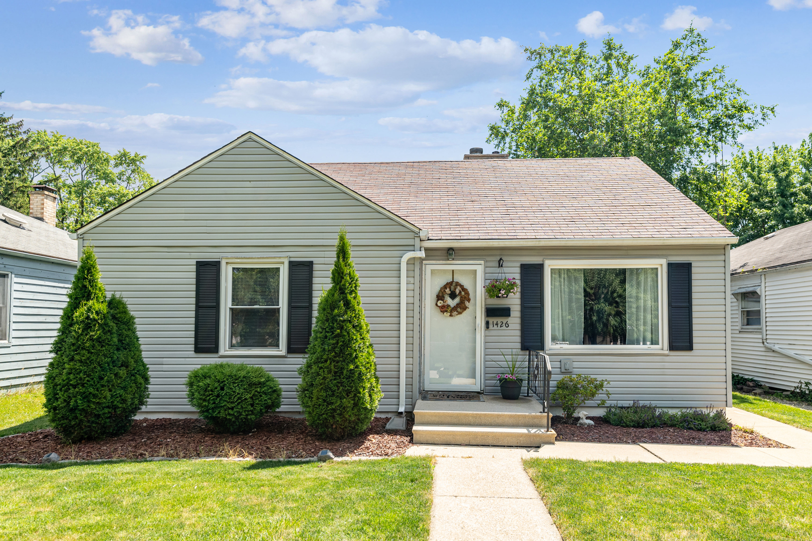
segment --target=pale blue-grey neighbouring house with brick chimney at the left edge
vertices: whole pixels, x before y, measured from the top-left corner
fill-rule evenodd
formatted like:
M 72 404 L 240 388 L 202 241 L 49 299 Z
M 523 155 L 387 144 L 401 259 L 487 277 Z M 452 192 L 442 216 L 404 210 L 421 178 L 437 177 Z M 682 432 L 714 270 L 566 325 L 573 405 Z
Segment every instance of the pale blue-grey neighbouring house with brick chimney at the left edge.
M 53 188 L 29 196 L 30 216 L 0 207 L 0 390 L 45 376 L 76 273 L 76 240 L 54 226 Z

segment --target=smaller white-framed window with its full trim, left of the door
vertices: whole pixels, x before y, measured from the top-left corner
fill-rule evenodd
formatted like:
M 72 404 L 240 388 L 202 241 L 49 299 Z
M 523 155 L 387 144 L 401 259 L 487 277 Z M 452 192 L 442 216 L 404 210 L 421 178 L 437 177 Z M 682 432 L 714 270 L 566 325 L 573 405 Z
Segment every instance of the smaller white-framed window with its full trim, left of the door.
M 287 258 L 223 258 L 221 268 L 220 354 L 285 354 Z

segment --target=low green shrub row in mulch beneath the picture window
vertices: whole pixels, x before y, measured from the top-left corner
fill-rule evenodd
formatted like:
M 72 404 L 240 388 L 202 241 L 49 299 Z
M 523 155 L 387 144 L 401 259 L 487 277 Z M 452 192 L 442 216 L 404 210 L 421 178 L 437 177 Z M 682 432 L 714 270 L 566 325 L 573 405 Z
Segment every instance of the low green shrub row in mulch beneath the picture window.
M 609 406 L 603 420 L 615 427 L 652 428 L 676 427 L 702 432 L 723 432 L 730 430 L 730 421 L 724 410 L 658 410 L 652 404 L 641 405 L 633 401 L 631 406 Z

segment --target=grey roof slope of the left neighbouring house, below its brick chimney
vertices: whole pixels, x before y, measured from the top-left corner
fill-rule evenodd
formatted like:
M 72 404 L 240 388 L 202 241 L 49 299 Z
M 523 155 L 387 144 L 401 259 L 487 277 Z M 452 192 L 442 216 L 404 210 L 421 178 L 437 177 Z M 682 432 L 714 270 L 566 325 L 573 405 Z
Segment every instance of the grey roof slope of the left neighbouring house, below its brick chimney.
M 11 225 L 2 218 L 3 214 L 26 223 L 22 227 Z M 3 250 L 19 252 L 23 257 L 34 255 L 76 264 L 76 241 L 67 235 L 65 230 L 0 206 L 0 248 Z

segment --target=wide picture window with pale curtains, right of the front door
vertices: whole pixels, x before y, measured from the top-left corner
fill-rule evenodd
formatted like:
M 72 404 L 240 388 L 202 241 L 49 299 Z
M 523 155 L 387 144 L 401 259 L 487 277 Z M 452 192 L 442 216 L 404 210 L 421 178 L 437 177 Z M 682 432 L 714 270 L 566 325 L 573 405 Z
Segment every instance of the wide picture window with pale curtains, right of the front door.
M 550 345 L 657 346 L 662 265 L 550 268 Z

